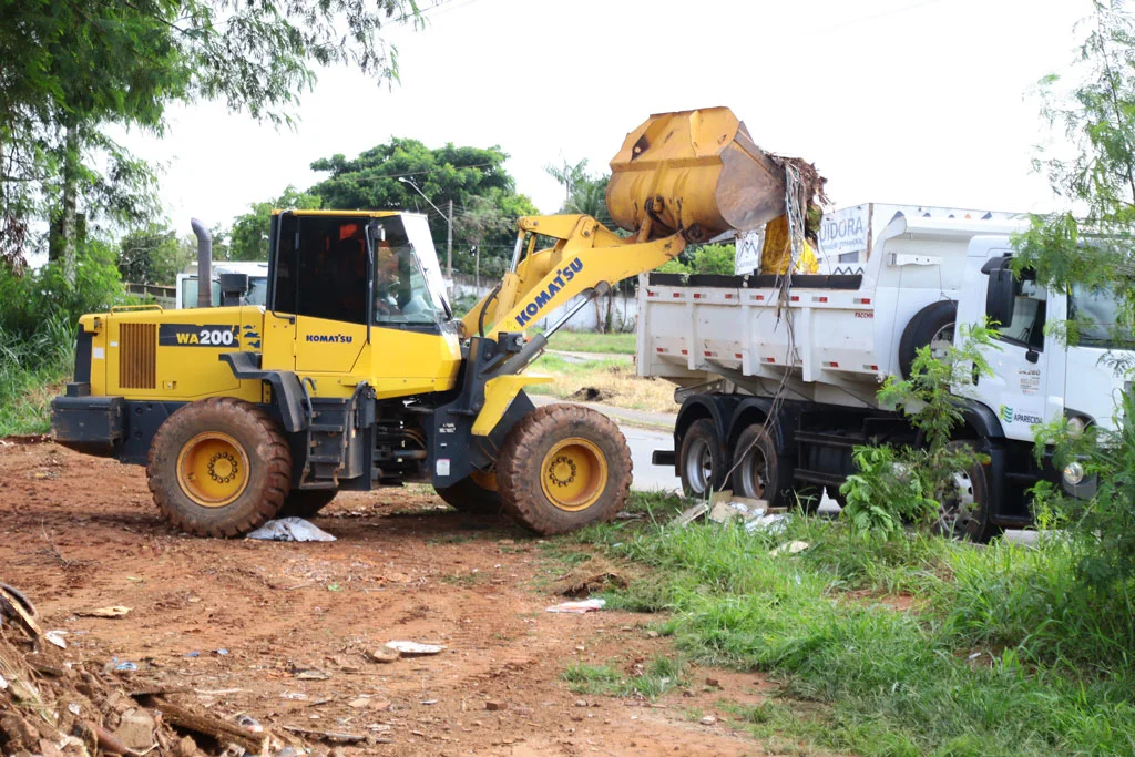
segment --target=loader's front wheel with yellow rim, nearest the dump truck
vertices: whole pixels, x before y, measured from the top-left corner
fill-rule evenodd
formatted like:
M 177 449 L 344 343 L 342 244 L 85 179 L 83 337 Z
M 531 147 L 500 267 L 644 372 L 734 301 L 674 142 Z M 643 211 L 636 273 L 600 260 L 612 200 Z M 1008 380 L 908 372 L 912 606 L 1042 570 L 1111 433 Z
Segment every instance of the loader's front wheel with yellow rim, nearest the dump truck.
M 508 432 L 497 461 L 501 505 L 537 533 L 609 521 L 631 487 L 631 451 L 603 413 L 546 405 Z

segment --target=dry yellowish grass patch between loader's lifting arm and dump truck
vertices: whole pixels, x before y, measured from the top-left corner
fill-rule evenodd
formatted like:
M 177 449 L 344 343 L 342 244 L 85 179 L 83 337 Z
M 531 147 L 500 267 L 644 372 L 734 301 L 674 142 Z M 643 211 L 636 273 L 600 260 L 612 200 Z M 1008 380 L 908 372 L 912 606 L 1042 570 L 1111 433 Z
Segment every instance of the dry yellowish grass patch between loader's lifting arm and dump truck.
M 615 407 L 656 413 L 678 411 L 673 384 L 639 378 L 633 363 L 624 360 L 574 362 L 561 355 L 544 354 L 532 363 L 532 370 L 552 376 L 555 382 L 526 387 L 526 392 L 530 394 L 560 399 L 586 399 L 588 390 L 594 389 L 602 397 L 598 402 Z

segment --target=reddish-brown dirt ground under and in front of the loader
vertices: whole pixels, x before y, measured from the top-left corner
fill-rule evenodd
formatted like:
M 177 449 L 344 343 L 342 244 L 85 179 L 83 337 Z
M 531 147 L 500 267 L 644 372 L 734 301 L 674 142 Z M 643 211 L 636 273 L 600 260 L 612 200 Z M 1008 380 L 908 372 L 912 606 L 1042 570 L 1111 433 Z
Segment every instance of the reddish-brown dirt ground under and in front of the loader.
M 0 581 L 67 632 L 70 659 L 136 664 L 129 687 L 185 687 L 296 746 L 284 726 L 370 737 L 345 755 L 765 754 L 720 708 L 760 701 L 756 674 L 693 668 L 653 704 L 570 691 L 572 662 L 631 671 L 673 649 L 654 616 L 545 612 L 563 600 L 548 542 L 428 488 L 343 494 L 325 514 L 335 542 L 191 538 L 159 518 L 141 468 L 0 444 Z M 79 614 L 108 605 L 131 612 Z M 396 639 L 446 650 L 371 662 Z

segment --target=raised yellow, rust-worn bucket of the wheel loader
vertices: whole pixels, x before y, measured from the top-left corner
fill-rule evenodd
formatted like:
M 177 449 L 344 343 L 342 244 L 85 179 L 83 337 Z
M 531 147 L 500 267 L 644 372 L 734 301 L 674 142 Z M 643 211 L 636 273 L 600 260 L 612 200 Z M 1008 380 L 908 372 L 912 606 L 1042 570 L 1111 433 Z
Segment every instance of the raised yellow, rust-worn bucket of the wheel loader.
M 784 213 L 784 170 L 729 108 L 651 116 L 611 160 L 607 211 L 648 237 L 749 232 Z

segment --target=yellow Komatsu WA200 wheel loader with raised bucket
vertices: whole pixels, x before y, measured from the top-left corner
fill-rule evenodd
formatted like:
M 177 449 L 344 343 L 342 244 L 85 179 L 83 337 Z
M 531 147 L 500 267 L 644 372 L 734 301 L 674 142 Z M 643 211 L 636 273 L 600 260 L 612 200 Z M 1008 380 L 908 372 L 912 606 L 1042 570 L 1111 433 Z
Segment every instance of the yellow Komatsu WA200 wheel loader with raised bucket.
M 611 165 L 607 207 L 632 234 L 586 216 L 521 218 L 510 270 L 463 319 L 422 216 L 276 211 L 266 305 L 239 304 L 246 284 L 227 276 L 219 308 L 81 319 L 54 438 L 145 465 L 158 507 L 197 536 L 405 482 L 539 533 L 612 519 L 631 482 L 622 434 L 594 410 L 536 409 L 524 387 L 550 379 L 524 369 L 617 281 L 781 216 L 785 179 L 726 108 L 654 116 Z

